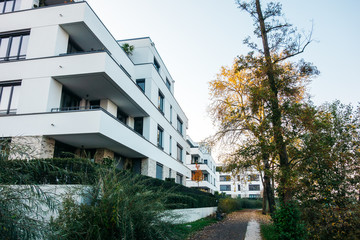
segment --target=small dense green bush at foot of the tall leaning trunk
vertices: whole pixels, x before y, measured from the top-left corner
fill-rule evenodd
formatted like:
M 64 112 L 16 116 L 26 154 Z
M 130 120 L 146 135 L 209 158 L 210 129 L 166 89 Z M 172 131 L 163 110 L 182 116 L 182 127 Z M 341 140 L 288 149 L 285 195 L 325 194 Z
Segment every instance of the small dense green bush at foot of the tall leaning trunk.
M 279 240 L 306 239 L 305 225 L 300 219 L 300 211 L 294 202 L 281 203 L 273 216 Z

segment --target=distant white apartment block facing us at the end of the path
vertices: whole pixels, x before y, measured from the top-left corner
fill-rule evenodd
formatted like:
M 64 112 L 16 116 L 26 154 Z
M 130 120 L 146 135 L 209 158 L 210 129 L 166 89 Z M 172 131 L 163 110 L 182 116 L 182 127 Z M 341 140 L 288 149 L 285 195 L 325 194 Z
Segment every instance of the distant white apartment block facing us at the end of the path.
M 219 166 L 221 169 L 221 166 Z M 258 171 L 216 172 L 219 192 L 233 198 L 262 198 L 263 185 Z

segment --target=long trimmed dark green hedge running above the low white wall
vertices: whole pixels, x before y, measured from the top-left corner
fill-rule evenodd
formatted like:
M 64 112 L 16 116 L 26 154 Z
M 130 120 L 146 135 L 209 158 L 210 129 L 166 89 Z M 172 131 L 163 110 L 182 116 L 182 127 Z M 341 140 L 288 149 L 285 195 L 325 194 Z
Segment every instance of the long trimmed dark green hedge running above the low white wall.
M 91 185 L 97 181 L 97 170 L 109 165 L 111 164 L 97 164 L 80 158 L 0 160 L 0 184 Z M 173 181 L 162 181 L 143 175 L 140 177 L 146 180 L 144 183 L 149 189 L 163 188 L 177 194 L 167 200 L 170 209 L 217 206 L 216 197 L 210 193 L 188 188 Z

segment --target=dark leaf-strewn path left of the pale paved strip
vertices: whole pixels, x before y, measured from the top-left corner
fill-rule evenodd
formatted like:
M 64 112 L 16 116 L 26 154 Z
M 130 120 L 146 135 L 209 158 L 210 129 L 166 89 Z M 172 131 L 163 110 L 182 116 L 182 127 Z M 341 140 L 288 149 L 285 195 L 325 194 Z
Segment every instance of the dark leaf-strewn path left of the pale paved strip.
M 257 210 L 242 210 L 233 212 L 225 220 L 205 227 L 202 231 L 191 236 L 188 240 L 243 240 L 246 227 L 251 220 L 267 222 L 269 218 Z

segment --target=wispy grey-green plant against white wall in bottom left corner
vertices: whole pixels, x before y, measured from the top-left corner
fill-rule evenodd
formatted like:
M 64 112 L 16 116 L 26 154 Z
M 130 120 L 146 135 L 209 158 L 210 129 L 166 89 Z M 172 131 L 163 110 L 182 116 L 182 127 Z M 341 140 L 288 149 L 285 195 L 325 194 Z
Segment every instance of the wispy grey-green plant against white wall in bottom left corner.
M 26 175 L 17 176 L 21 185 L 7 185 L 6 178 L 13 176 L 14 169 L 6 168 L 9 141 L 0 143 L 0 236 L 1 239 L 41 239 L 49 231 L 45 219 L 55 211 L 57 201 L 51 192 L 29 182 Z M 14 149 L 14 148 L 12 148 Z M 17 146 L 16 149 L 20 149 Z M 23 157 L 26 157 L 23 155 Z M 16 170 L 36 171 L 39 165 L 26 159 L 18 162 Z

